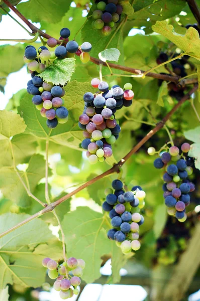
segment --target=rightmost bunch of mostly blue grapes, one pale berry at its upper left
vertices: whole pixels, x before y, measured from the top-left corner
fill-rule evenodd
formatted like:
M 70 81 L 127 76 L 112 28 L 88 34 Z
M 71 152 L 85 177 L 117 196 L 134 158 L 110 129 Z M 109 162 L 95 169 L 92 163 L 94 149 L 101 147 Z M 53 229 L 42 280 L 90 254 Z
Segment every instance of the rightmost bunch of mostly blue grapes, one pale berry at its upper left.
M 192 174 L 190 160 L 185 157 L 189 152 L 189 143 L 181 145 L 182 153 L 179 155 L 179 148 L 171 146 L 166 148 L 166 152 L 160 153 L 160 158 L 155 159 L 154 167 L 165 169 L 163 174 L 163 191 L 165 205 L 168 207 L 169 215 L 175 216 L 178 221 L 184 222 L 187 218 L 185 208 L 190 203 L 189 192 L 194 191 L 194 184 L 191 183 L 187 176 Z M 155 148 L 149 147 L 148 154 L 154 155 Z

